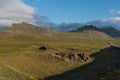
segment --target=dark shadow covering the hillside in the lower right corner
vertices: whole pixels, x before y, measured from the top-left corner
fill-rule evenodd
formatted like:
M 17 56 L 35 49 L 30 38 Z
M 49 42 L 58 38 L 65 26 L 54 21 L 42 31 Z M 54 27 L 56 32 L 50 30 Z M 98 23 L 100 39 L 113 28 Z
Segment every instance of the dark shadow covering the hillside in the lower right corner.
M 120 48 L 110 46 L 91 57 L 92 63 L 44 80 L 120 80 Z

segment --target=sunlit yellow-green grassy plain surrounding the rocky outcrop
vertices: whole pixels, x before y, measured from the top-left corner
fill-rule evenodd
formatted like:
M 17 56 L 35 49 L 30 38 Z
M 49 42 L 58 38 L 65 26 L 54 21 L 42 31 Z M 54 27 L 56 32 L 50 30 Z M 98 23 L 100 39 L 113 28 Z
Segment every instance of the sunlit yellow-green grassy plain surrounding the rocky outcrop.
M 119 40 L 114 42 L 117 44 Z M 82 63 L 67 63 L 50 56 L 46 57 L 38 51 L 41 45 L 48 45 L 58 51 L 77 48 L 80 52 L 91 54 L 108 47 L 109 41 L 84 37 L 78 33 L 1 37 L 0 62 L 31 79 L 44 79 L 83 65 Z

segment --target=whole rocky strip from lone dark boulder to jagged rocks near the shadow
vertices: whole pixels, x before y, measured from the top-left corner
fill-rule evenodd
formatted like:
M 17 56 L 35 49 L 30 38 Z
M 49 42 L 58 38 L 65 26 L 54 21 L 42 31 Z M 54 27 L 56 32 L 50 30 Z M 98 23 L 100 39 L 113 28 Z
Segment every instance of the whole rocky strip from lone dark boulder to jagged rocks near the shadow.
M 41 46 L 38 48 L 39 51 L 43 51 L 46 55 L 51 55 L 55 58 L 59 58 L 61 60 L 67 62 L 87 62 L 90 60 L 90 56 L 86 53 L 80 53 L 78 50 L 66 50 L 64 52 L 59 52 L 55 49 L 52 49 L 48 46 Z

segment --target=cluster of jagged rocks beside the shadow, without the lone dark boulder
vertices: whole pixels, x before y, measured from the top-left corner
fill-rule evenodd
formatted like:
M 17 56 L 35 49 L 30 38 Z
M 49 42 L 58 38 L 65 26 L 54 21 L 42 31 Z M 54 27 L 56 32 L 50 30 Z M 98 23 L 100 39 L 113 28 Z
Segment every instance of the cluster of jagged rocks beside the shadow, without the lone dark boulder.
M 90 60 L 90 56 L 86 53 L 80 53 L 78 51 L 67 51 L 62 53 L 55 53 L 55 57 L 63 59 L 68 62 L 87 62 Z

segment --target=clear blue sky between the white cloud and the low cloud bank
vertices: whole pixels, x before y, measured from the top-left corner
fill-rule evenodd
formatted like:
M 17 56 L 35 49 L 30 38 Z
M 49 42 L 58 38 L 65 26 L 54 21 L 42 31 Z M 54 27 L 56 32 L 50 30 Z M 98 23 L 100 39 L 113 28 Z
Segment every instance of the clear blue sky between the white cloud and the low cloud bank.
M 24 0 L 40 15 L 55 23 L 88 22 L 106 20 L 116 16 L 120 0 Z

